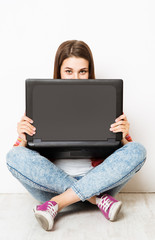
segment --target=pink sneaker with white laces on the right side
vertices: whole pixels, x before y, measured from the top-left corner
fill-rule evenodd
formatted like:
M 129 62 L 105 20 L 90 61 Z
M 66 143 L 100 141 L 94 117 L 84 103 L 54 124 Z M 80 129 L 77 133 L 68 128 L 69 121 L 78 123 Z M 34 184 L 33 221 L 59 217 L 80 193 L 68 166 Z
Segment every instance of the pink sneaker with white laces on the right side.
M 108 194 L 104 194 L 97 203 L 97 206 L 103 213 L 106 219 L 115 221 L 117 214 L 119 213 L 122 202 L 117 201 L 115 198 Z

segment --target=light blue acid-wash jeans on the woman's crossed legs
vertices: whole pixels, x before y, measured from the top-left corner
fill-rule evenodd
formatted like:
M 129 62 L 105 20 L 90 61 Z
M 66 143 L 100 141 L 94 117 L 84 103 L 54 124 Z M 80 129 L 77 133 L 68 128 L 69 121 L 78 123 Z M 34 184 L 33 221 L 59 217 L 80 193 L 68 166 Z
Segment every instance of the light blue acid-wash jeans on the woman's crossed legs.
M 130 142 L 85 176 L 72 177 L 37 151 L 13 147 L 7 153 L 10 172 L 40 202 L 48 201 L 68 188 L 72 188 L 83 202 L 104 192 L 114 196 L 140 170 L 145 160 L 145 148 L 140 143 Z

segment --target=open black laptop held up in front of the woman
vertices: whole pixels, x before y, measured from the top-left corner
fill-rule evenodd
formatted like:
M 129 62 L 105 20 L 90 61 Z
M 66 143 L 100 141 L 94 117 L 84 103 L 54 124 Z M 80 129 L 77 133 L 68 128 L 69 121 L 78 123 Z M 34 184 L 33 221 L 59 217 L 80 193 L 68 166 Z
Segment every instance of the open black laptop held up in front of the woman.
M 52 159 L 105 158 L 121 147 L 109 130 L 123 112 L 121 79 L 27 79 L 27 146 Z

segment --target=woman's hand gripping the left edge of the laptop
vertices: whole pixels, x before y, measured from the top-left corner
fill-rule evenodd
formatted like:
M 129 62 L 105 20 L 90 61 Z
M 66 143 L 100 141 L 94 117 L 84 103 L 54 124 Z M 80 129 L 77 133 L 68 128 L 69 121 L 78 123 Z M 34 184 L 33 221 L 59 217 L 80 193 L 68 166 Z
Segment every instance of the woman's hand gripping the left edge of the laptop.
M 20 122 L 17 123 L 18 135 L 25 142 L 27 142 L 25 133 L 27 133 L 30 136 L 33 136 L 33 134 L 36 133 L 35 132 L 36 128 L 33 125 L 31 125 L 31 123 L 33 123 L 33 120 L 27 117 L 25 113 L 24 116 L 21 118 Z

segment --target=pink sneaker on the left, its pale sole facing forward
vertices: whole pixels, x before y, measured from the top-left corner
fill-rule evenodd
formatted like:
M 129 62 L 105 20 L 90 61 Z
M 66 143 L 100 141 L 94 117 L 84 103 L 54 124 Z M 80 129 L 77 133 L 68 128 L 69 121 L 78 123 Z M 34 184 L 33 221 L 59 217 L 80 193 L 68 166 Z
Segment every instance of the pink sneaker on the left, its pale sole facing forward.
M 58 211 L 58 204 L 54 201 L 47 201 L 42 205 L 35 206 L 33 211 L 39 224 L 46 231 L 52 230 L 54 218 Z

